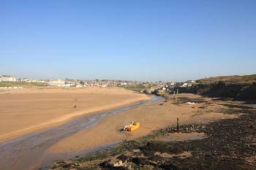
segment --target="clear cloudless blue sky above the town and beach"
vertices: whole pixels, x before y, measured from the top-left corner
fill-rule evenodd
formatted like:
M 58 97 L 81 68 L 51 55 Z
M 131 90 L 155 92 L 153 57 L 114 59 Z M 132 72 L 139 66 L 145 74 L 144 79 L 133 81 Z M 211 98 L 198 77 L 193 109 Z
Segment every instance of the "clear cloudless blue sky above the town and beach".
M 256 74 L 256 1 L 1 0 L 0 74 L 145 81 Z

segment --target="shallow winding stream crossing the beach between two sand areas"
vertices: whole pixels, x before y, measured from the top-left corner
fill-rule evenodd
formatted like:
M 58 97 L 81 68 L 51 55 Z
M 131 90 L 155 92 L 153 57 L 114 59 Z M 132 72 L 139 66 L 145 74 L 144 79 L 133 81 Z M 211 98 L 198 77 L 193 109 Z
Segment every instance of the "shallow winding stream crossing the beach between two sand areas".
M 49 128 L 48 130 L 38 131 L 34 134 L 21 136 L 7 142 L 1 142 L 0 169 L 37 169 L 38 166 L 42 166 L 42 162 L 43 166 L 47 167 L 47 164 L 55 161 L 56 158 L 73 158 L 75 154 L 78 154 L 77 152 L 64 152 L 58 155 L 54 155 L 46 152 L 46 150 L 53 144 L 56 144 L 56 142 L 59 142 L 61 139 L 75 134 L 78 131 L 89 128 L 92 125 L 96 125 L 106 115 L 114 115 L 118 112 L 132 109 L 142 104 L 162 100 L 162 97 L 152 96 L 150 101 L 140 101 L 138 103 L 131 104 L 126 107 L 120 107 L 118 109 L 113 109 L 107 112 L 99 112 L 95 115 L 85 115 L 75 118 L 74 120 L 71 120 L 64 125 L 60 125 L 55 128 Z M 111 144 L 99 147 L 94 150 L 84 150 L 79 154 L 85 155 L 89 152 L 97 152 L 97 150 L 102 150 L 105 147 L 110 146 Z

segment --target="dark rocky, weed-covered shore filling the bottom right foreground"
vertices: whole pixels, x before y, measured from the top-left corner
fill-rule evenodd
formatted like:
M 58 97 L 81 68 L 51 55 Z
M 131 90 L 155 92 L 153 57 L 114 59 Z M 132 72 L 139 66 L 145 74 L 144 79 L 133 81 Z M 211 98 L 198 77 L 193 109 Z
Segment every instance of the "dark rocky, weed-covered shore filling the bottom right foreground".
M 208 124 L 173 125 L 78 161 L 58 161 L 53 169 L 256 169 L 254 105 L 227 104 L 235 119 Z M 178 129 L 177 129 L 178 128 Z M 204 134 L 201 139 L 173 141 L 172 134 Z

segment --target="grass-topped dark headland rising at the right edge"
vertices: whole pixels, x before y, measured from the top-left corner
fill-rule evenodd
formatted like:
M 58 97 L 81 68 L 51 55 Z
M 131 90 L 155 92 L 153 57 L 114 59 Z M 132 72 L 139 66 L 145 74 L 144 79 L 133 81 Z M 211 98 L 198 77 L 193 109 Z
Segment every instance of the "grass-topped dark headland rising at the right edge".
M 180 93 L 197 93 L 203 96 L 256 101 L 256 74 L 221 76 L 197 80 L 188 88 L 178 88 Z

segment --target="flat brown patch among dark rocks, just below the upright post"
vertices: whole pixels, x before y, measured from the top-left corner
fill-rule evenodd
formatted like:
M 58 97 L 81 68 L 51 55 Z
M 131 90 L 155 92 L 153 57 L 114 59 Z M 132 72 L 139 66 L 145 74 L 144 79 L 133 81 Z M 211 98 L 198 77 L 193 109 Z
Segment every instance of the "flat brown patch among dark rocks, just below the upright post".
M 204 139 L 206 138 L 206 134 L 204 133 L 174 133 L 174 134 L 168 134 L 166 136 L 161 137 L 160 140 L 163 141 L 187 141 L 187 140 L 198 140 L 198 139 Z

